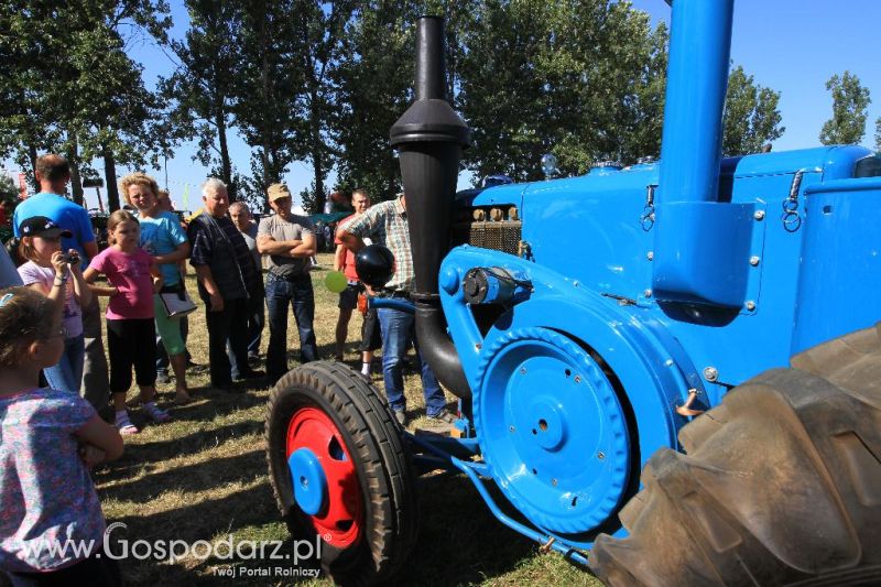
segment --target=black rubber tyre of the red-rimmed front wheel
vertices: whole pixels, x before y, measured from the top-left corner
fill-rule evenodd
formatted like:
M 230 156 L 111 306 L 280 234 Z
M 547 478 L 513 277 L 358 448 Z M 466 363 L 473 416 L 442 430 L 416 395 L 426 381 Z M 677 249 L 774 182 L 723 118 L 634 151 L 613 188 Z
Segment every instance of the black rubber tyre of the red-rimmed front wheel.
M 344 585 L 388 580 L 406 559 L 418 528 L 413 472 L 393 415 L 376 388 L 341 363 L 304 365 L 273 388 L 265 423 L 272 489 L 291 533 L 313 544 L 316 525 L 294 500 L 286 454 L 289 424 L 304 409 L 317 409 L 333 420 L 338 441 L 352 457 L 362 500 L 358 540 L 346 547 L 324 542 L 322 567 Z

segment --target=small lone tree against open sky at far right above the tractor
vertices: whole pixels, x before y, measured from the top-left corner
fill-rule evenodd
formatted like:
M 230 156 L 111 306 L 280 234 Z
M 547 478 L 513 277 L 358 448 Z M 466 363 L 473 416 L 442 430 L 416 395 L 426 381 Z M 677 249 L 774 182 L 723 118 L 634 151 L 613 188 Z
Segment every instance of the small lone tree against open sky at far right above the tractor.
M 860 78 L 850 72 L 841 77 L 834 75 L 826 81 L 833 93 L 833 118 L 823 124 L 819 141 L 823 144 L 858 144 L 866 133 L 869 89 L 862 87 Z

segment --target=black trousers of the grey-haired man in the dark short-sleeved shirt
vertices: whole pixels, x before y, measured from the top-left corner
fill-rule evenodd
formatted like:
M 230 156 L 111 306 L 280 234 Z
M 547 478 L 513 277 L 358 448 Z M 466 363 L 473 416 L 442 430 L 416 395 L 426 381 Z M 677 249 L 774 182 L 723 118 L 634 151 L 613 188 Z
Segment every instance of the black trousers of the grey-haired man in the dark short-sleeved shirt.
M 205 302 L 205 320 L 208 325 L 208 362 L 211 385 L 228 389 L 232 384 L 232 367 L 227 356 L 227 340 L 232 349 L 237 367 L 248 365 L 248 301 L 224 300 L 224 309 L 211 312 L 211 303 Z

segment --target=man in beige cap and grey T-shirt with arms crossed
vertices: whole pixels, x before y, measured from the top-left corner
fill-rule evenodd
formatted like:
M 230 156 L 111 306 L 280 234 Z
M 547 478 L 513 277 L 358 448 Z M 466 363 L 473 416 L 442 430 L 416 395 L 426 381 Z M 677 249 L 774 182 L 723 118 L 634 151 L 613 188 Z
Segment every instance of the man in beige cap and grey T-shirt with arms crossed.
M 318 358 L 315 343 L 315 294 L 309 278 L 309 258 L 316 252 L 312 221 L 291 211 L 293 198 L 284 184 L 272 184 L 267 191 L 274 215 L 260 220 L 257 250 L 267 256 L 267 311 L 269 313 L 269 348 L 267 377 L 274 384 L 287 372 L 287 305 L 293 305 L 300 330 L 300 360 Z

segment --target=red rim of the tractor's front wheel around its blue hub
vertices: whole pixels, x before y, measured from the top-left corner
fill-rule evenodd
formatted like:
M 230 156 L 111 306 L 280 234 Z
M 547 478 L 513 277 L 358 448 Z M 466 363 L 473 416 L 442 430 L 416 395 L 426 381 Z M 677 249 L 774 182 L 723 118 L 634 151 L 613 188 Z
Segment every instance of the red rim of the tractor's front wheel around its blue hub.
M 363 500 L 349 449 L 333 418 L 317 407 L 303 407 L 287 425 L 287 453 L 312 450 L 327 478 L 327 500 L 311 515 L 315 531 L 327 544 L 346 547 L 361 535 Z

